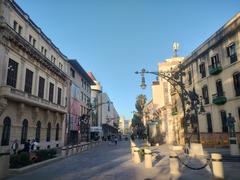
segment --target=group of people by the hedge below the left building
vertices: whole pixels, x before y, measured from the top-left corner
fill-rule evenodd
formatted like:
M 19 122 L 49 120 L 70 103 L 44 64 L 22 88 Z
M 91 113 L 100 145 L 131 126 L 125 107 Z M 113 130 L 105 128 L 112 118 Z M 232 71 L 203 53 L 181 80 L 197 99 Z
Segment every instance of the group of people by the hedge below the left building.
M 18 141 L 17 140 L 14 140 L 12 146 L 11 146 L 11 149 L 13 151 L 13 154 L 19 154 L 21 152 L 31 152 L 31 151 L 35 151 L 38 149 L 38 142 L 33 139 L 32 141 L 28 140 L 24 143 L 24 147 L 22 150 L 19 150 L 19 145 L 18 145 Z

